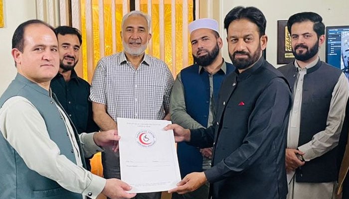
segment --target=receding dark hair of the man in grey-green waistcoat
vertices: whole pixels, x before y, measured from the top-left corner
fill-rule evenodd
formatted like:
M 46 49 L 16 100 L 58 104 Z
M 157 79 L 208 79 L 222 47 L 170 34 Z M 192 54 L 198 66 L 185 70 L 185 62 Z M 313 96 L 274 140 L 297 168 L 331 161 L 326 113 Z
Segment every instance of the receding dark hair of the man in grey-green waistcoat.
M 13 33 L 13 36 L 12 36 L 12 48 L 16 48 L 20 52 L 23 52 L 23 47 L 24 47 L 24 38 L 23 38 L 24 30 L 30 24 L 42 24 L 42 25 L 45 25 L 48 28 L 50 28 L 53 31 L 53 33 L 55 33 L 54 28 L 51 25 L 49 25 L 48 23 L 44 22 L 44 21 L 41 21 L 41 20 L 38 20 L 38 19 L 32 19 L 32 20 L 25 21 L 25 22 L 19 24 L 18 27 L 16 28 L 16 30 Z M 40 33 L 38 32 L 38 34 L 40 34 Z M 57 37 L 56 33 L 55 33 L 55 35 Z

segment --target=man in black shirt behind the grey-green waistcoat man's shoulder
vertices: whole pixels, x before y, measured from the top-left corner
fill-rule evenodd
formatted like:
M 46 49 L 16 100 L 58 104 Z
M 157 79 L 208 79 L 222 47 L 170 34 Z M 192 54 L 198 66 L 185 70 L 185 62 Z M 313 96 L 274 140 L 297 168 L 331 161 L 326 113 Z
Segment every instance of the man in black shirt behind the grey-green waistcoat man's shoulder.
M 69 26 L 55 29 L 59 48 L 59 71 L 51 80 L 51 90 L 73 122 L 77 132 L 98 132 L 92 118 L 90 84 L 77 76 L 74 68 L 79 61 L 82 36 L 80 31 Z M 91 157 L 92 158 L 92 157 Z M 91 171 L 90 158 L 85 158 L 86 169 Z

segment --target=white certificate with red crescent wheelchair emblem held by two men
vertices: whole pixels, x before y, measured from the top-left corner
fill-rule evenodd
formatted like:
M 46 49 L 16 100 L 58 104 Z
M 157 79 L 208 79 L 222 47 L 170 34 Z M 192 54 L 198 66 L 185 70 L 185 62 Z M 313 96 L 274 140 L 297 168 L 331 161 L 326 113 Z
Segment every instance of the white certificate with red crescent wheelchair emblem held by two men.
M 130 193 L 168 191 L 180 181 L 173 130 L 168 120 L 118 117 L 121 180 Z

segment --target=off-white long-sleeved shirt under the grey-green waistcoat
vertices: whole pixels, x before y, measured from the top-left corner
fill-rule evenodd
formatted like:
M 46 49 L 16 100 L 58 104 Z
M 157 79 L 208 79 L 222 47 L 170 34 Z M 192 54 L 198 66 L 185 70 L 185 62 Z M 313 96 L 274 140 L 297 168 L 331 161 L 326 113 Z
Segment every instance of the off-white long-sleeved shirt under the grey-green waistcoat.
M 89 197 L 95 199 L 102 192 L 106 180 L 82 167 L 71 124 L 65 113 L 59 110 L 65 118 L 76 162 L 60 154 L 58 146 L 48 135 L 44 119 L 34 105 L 23 97 L 12 97 L 2 105 L 0 130 L 29 169 L 56 181 L 66 190 L 83 196 L 92 194 Z M 94 143 L 93 133 L 82 133 L 79 139 L 86 157 L 102 150 Z

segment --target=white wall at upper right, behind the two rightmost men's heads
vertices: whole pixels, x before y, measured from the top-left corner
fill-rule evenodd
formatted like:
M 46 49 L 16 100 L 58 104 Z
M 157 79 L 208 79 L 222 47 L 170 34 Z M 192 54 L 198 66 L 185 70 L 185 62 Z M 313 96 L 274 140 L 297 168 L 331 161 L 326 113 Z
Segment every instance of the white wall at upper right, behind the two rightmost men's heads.
M 277 20 L 287 20 L 292 14 L 312 11 L 323 17 L 326 26 L 349 25 L 348 0 L 220 0 L 220 30 L 224 40 L 223 57 L 230 62 L 224 30 L 224 17 L 235 6 L 255 6 L 259 8 L 267 19 L 266 34 L 268 35 L 267 61 L 273 66 L 277 60 Z M 216 10 L 215 10 L 216 11 Z M 320 58 L 325 61 L 325 43 L 320 50 Z

